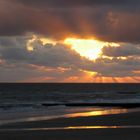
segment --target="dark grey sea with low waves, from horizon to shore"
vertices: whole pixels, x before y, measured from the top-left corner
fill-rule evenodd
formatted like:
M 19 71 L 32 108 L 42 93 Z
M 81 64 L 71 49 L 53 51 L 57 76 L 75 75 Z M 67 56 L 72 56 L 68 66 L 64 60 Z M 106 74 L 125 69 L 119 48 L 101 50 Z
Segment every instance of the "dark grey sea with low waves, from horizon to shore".
M 111 108 L 95 103 L 140 103 L 140 84 L 1 83 L 0 124 Z

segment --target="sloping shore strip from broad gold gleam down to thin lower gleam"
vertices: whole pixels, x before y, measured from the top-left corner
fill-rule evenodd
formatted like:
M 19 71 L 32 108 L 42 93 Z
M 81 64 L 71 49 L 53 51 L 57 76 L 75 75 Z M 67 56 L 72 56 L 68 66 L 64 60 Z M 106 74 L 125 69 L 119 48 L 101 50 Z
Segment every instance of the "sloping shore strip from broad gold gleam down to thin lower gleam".
M 95 113 L 95 114 L 94 114 Z M 99 113 L 99 114 L 98 114 Z M 109 114 L 108 114 L 109 113 Z M 52 119 L 29 118 L 23 122 L 0 125 L 4 128 L 140 125 L 140 110 L 107 109 L 62 115 Z

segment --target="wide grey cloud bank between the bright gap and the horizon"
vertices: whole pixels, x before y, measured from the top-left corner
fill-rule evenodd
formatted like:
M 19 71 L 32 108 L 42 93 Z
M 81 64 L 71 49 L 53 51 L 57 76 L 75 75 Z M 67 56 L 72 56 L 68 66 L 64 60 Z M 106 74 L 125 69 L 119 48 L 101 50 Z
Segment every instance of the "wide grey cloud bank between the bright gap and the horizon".
M 121 45 L 117 49 L 113 46 L 104 47 L 104 55 L 112 58 L 100 57 L 96 61 L 90 61 L 81 57 L 70 46 L 60 43 L 43 45 L 39 37 L 30 44 L 33 51 L 28 51 L 29 40 L 30 36 L 0 38 L 1 80 L 9 80 L 17 73 L 17 81 L 24 79 L 32 81 L 33 77 L 35 79 L 44 77 L 44 81 L 46 78 L 54 82 L 70 77 L 82 77 L 85 75 L 84 71 L 96 72 L 97 76 L 102 77 L 140 76 L 137 72 L 140 70 L 140 57 L 138 51 L 131 51 L 132 45 Z M 139 49 L 139 45 L 133 47 Z M 120 58 L 122 55 L 126 59 Z M 12 79 L 15 81 L 16 76 Z

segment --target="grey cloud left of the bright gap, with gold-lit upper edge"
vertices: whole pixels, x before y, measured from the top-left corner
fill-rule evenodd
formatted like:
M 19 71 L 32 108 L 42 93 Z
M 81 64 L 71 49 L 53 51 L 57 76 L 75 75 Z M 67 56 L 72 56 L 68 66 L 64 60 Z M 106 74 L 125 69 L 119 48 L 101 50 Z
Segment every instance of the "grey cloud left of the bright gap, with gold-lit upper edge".
M 45 44 L 36 39 L 33 51 L 28 51 L 27 40 L 23 37 L 0 40 L 0 57 L 7 62 L 36 64 L 47 67 L 78 67 L 87 60 L 64 44 Z M 13 44 L 13 46 L 12 46 Z M 15 45 L 14 45 L 15 44 Z

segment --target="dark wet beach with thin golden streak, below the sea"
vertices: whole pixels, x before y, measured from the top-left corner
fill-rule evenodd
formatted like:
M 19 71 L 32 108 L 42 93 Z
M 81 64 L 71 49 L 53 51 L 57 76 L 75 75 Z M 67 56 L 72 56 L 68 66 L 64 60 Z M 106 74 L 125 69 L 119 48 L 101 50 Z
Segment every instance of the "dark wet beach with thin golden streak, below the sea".
M 139 140 L 139 109 L 120 110 L 123 112 L 89 116 L 91 112 L 74 113 L 51 120 L 5 124 L 0 126 L 0 140 Z

